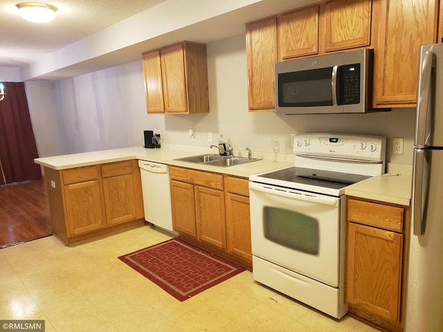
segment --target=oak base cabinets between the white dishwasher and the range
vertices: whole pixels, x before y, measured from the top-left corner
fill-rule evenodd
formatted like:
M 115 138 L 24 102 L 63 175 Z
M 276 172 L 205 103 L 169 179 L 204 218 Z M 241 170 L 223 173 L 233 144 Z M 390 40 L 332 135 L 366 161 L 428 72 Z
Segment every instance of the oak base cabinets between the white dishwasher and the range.
M 252 268 L 248 180 L 175 166 L 170 177 L 179 237 Z

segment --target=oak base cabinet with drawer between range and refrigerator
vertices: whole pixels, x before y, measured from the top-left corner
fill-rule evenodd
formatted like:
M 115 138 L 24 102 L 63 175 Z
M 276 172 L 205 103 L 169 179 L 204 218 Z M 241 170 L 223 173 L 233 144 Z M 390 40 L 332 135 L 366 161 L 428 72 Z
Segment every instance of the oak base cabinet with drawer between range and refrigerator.
M 403 331 L 409 208 L 347 198 L 346 302 L 349 312 Z

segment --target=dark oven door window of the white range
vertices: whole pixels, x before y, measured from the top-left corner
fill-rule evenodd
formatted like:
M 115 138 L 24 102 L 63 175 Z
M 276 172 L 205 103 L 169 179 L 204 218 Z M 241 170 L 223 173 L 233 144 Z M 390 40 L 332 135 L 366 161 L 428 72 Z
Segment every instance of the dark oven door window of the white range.
M 317 219 L 298 212 L 264 207 L 264 237 L 287 248 L 318 255 Z

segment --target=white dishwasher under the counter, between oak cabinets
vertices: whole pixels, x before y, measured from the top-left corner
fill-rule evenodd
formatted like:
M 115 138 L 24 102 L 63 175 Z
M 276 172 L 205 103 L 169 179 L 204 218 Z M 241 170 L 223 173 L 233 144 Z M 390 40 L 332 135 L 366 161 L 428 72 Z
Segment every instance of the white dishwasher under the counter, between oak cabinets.
M 143 189 L 145 220 L 168 232 L 172 228 L 171 189 L 168 165 L 138 160 Z

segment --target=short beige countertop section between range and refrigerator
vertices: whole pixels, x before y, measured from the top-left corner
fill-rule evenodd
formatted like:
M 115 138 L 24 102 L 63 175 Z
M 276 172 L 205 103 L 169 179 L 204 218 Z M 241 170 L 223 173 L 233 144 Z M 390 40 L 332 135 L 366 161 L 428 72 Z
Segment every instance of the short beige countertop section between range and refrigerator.
M 412 184 L 411 168 L 410 165 L 388 165 L 387 174 L 399 175 L 381 175 L 368 178 L 368 180 L 347 187 L 345 194 L 408 206 Z

